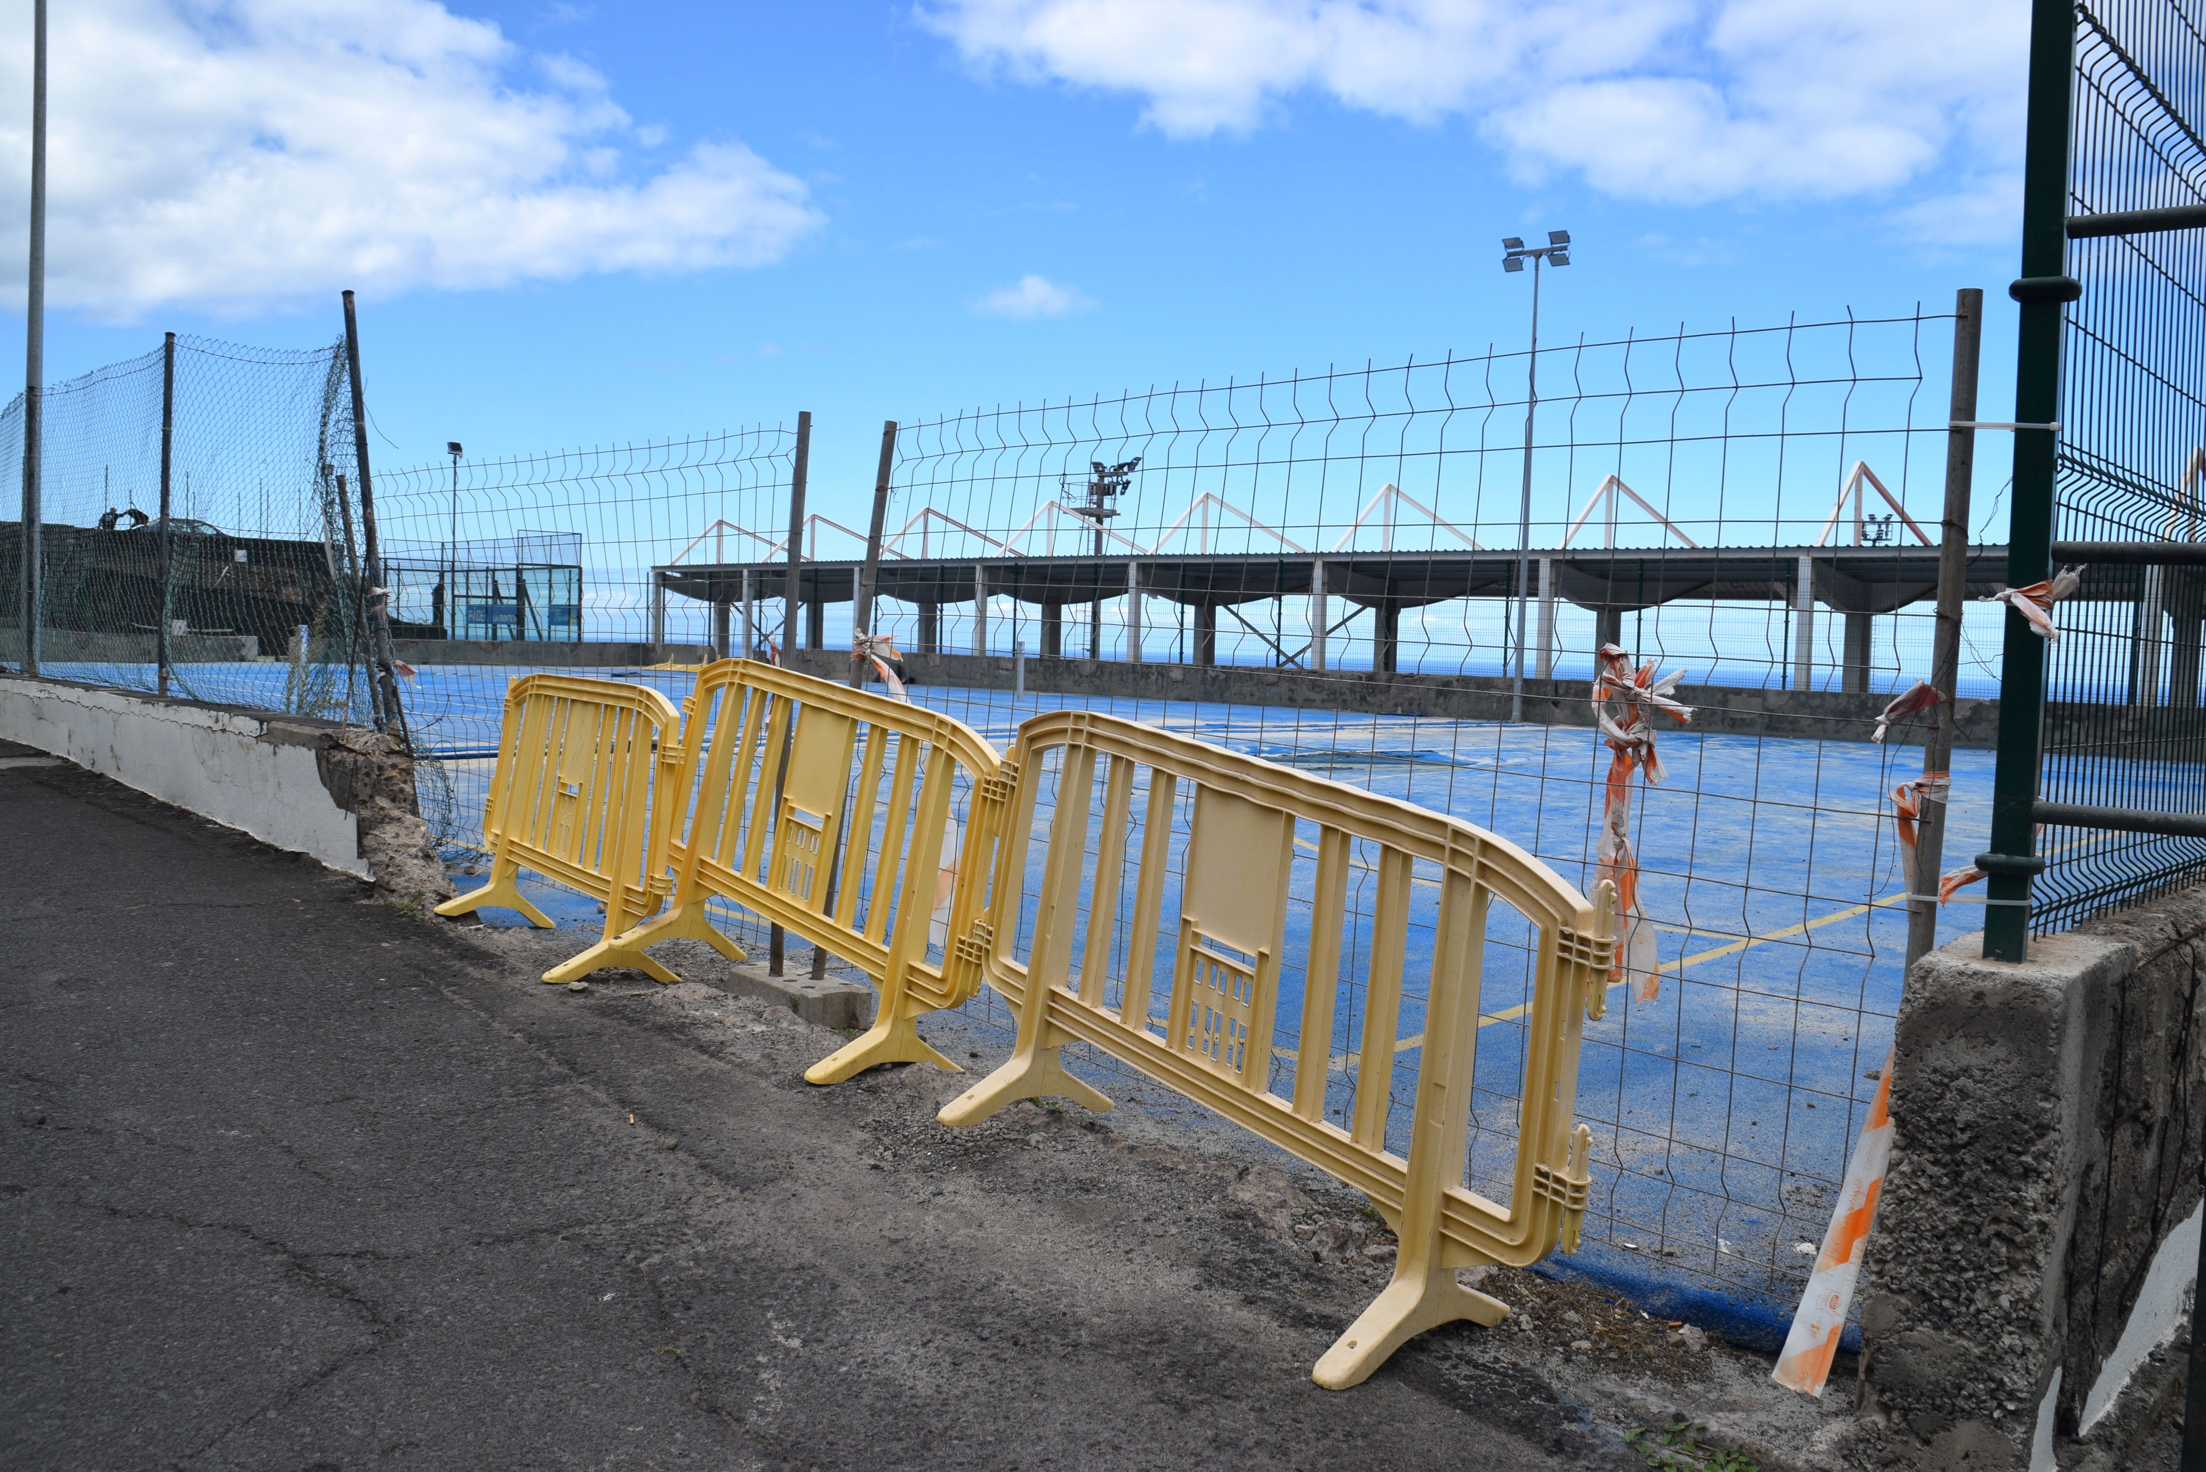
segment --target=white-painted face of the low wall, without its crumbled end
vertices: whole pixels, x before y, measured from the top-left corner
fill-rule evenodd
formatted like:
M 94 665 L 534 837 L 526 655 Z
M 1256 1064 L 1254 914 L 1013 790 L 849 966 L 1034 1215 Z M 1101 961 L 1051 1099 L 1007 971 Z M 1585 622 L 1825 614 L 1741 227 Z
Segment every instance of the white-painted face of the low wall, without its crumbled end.
M 315 722 L 57 680 L 0 680 L 0 739 L 368 878 L 360 819 L 322 786 Z

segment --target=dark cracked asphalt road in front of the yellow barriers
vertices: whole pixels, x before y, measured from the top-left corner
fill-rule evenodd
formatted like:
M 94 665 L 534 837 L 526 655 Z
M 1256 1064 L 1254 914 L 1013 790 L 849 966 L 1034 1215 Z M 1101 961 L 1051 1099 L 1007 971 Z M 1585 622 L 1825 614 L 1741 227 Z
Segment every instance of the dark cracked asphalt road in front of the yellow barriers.
M 1341 1194 L 529 938 L 0 744 L 4 1468 L 1632 1465 L 1498 1331 L 1332 1395 Z M 1114 1123 L 1118 1121 L 1118 1123 Z M 1315 1247 L 1313 1247 L 1315 1245 Z

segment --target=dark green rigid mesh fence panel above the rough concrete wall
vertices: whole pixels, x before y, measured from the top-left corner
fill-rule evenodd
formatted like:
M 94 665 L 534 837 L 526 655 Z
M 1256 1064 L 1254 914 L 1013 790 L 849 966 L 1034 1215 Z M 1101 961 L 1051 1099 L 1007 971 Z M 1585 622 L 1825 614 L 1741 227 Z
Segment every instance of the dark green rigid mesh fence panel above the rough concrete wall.
M 2182 7 L 2078 4 L 2071 108 L 2069 214 L 2087 225 L 2098 214 L 2206 205 L 2206 35 Z M 2067 249 L 2082 296 L 2060 335 L 2054 538 L 2195 543 L 2206 490 L 2197 331 L 2206 241 L 2197 230 L 2138 230 L 2080 234 Z M 2085 598 L 2063 600 L 2060 640 L 2045 649 L 2038 794 L 2206 812 L 2206 561 L 2102 558 L 2080 578 Z M 2206 874 L 2197 836 L 2045 825 L 2036 854 L 2047 863 L 2034 887 L 2038 931 Z

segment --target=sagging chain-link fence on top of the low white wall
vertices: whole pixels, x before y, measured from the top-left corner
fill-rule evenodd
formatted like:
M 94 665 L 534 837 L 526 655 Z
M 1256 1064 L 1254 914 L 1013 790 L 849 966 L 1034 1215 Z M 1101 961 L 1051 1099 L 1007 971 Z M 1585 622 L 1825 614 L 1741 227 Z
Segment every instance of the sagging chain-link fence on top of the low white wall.
M 174 338 L 46 388 L 42 671 L 368 719 L 342 375 L 342 344 Z M 22 439 L 18 395 L 0 459 L 20 466 Z M 22 523 L 0 523 L 0 578 L 15 589 L 22 576 Z M 9 662 L 24 658 L 20 609 L 0 622 Z

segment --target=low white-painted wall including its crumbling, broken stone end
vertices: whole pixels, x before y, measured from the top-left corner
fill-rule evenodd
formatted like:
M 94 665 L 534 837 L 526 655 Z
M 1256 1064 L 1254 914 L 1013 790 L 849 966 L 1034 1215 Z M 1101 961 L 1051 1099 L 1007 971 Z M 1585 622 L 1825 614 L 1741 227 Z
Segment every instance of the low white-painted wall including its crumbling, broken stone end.
M 450 896 L 415 808 L 413 764 L 373 730 L 0 673 L 0 739 L 66 757 L 390 894 Z

